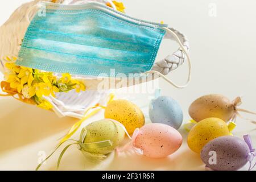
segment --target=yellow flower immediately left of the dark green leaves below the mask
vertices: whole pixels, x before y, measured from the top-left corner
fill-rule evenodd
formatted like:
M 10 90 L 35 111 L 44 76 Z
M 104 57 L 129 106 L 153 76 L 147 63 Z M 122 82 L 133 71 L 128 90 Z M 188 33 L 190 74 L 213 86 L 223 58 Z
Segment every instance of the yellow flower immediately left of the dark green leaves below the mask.
M 49 96 L 50 94 L 55 97 L 55 92 L 59 92 L 59 88 L 52 85 L 51 82 L 35 84 L 35 94 L 38 97 Z

